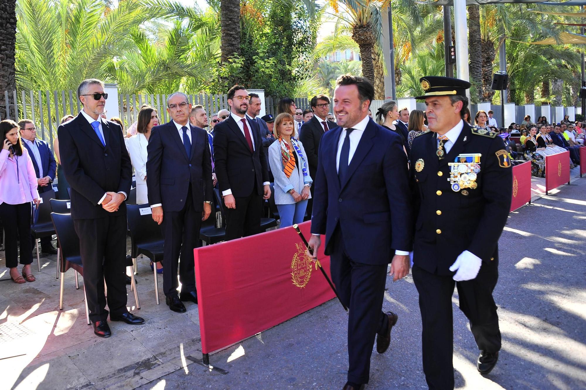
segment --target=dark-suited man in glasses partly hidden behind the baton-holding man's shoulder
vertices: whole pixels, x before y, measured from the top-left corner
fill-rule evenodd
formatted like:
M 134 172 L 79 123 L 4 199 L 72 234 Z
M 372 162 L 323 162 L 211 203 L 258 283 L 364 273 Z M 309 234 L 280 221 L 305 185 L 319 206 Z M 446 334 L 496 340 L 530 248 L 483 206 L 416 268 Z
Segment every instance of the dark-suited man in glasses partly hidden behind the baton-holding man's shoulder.
M 309 165 L 309 176 L 315 180 L 315 173 L 318 170 L 318 150 L 319 142 L 322 135 L 336 126 L 335 122 L 326 119 L 328 117 L 330 100 L 326 95 L 317 95 L 309 101 L 311 109 L 314 110 L 314 117 L 309 119 L 301 126 L 299 132 L 299 141 L 303 143 L 305 153 L 307 153 L 307 162 Z M 314 204 L 315 186 L 311 187 L 311 198 L 307 202 L 307 219 L 311 219 L 312 208 Z

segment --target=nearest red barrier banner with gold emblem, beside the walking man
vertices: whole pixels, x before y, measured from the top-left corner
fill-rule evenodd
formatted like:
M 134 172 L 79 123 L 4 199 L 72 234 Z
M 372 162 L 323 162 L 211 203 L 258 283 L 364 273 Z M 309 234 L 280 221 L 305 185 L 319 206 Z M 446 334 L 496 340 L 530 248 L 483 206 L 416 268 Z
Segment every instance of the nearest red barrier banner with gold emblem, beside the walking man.
M 311 221 L 299 225 L 309 240 Z M 220 350 L 335 297 L 293 227 L 194 249 L 202 353 Z M 329 256 L 318 260 L 329 273 Z

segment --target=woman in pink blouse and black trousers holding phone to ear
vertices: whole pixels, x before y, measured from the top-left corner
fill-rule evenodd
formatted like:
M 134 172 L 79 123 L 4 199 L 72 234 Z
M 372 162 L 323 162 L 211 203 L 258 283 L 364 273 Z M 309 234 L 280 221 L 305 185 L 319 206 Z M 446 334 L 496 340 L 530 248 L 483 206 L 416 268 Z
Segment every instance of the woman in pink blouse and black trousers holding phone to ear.
M 35 167 L 19 138 L 19 127 L 14 121 L 0 122 L 2 150 L 0 150 L 0 218 L 4 225 L 6 267 L 15 283 L 34 282 L 30 272 L 33 262 L 30 239 L 30 202 L 39 206 L 39 191 Z M 17 234 L 21 240 L 22 275 L 18 272 Z M 26 280 L 25 280 L 26 279 Z

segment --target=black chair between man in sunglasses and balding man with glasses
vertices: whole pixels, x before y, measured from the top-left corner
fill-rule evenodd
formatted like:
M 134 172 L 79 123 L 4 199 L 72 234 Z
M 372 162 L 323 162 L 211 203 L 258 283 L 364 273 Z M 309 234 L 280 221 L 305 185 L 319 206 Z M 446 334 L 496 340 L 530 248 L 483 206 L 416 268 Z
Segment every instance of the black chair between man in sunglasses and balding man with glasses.
M 141 215 L 141 209 L 147 211 Z M 152 220 L 151 207 L 145 204 L 127 204 L 126 218 L 128 231 L 130 232 L 132 261 L 136 261 L 138 255 L 145 255 L 152 262 L 163 260 L 163 234 L 161 226 Z M 170 269 L 166 272 L 171 272 Z M 155 278 L 155 299 L 159 305 L 159 281 L 156 277 L 156 266 L 153 267 Z

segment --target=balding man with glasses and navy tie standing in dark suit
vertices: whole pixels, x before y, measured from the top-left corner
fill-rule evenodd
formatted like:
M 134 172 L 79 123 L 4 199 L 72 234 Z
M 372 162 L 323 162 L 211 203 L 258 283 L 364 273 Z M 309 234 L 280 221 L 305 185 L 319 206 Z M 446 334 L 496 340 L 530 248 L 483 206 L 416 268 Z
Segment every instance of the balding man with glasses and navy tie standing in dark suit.
M 207 132 L 189 124 L 191 108 L 184 93 L 169 95 L 167 112 L 171 121 L 152 128 L 147 146 L 148 200 L 152 219 L 163 225 L 165 240 L 165 303 L 178 313 L 186 311 L 182 301 L 197 303 L 193 248 L 199 246 L 199 230 L 212 213 L 213 199 Z

